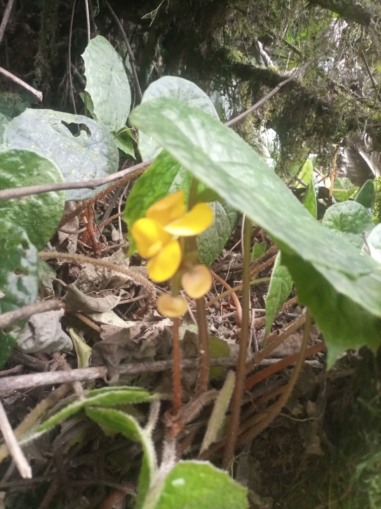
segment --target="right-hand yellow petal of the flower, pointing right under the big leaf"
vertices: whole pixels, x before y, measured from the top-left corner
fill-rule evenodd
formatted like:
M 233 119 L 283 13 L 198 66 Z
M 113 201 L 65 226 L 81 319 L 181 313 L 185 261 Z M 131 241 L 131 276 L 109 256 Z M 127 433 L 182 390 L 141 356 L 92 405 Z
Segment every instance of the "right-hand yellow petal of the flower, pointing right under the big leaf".
M 198 235 L 213 221 L 213 212 L 207 203 L 198 203 L 180 219 L 167 224 L 165 230 L 179 237 Z

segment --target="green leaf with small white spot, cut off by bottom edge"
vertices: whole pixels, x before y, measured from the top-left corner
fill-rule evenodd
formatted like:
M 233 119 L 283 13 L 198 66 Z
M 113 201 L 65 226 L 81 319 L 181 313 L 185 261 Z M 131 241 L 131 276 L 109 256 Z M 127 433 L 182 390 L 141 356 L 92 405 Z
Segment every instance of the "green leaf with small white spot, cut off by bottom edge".
M 155 509 L 245 509 L 246 489 L 202 461 L 180 461 L 164 481 Z

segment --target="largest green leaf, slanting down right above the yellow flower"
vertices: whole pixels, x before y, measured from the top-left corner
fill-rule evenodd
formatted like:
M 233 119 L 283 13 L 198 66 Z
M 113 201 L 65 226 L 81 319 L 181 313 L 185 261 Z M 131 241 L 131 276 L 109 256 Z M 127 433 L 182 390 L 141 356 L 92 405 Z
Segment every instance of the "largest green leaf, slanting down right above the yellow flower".
M 354 341 L 357 347 L 366 344 L 374 348 L 379 344 L 378 264 L 315 221 L 235 132 L 203 111 L 174 99 L 141 104 L 133 111 L 131 121 L 223 199 L 269 232 L 284 254 L 283 261 L 296 283 L 299 299 L 311 308 L 335 354 L 339 348 L 353 348 Z M 298 264 L 303 268 L 299 275 Z M 313 292 L 305 291 L 311 282 L 330 288 L 325 291 L 325 305 L 316 304 Z M 330 309 L 328 315 L 326 306 Z M 349 308 L 351 313 L 347 312 Z M 343 316 L 345 327 L 339 328 L 336 317 Z M 369 334 L 362 333 L 354 340 L 358 317 L 362 317 Z

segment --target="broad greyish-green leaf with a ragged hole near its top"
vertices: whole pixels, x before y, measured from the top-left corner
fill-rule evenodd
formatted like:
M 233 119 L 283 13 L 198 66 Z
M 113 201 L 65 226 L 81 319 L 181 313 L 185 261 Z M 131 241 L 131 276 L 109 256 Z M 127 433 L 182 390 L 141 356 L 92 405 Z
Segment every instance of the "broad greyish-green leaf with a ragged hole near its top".
M 79 132 L 76 124 L 81 127 Z M 33 150 L 47 157 L 58 166 L 65 182 L 99 179 L 118 171 L 118 148 L 104 127 L 83 115 L 51 109 L 28 108 L 8 122 L 0 149 Z M 66 199 L 85 200 L 106 186 L 71 189 Z

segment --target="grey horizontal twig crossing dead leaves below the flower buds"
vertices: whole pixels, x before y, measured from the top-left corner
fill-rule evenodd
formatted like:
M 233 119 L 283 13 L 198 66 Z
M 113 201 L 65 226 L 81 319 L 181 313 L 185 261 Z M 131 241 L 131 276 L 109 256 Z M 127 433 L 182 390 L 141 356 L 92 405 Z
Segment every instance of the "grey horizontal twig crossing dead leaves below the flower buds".
M 251 358 L 246 359 L 249 364 Z M 198 359 L 184 359 L 181 361 L 181 369 L 195 369 L 198 367 Z M 230 367 L 237 365 L 237 359 L 232 357 L 215 357 L 210 359 L 209 365 Z M 121 364 L 119 373 L 121 375 L 141 375 L 142 373 L 160 373 L 172 368 L 172 360 L 155 360 L 152 362 L 134 362 Z M 91 381 L 97 378 L 106 378 L 107 367 L 85 367 L 71 371 L 50 371 L 48 373 L 34 373 L 30 375 L 19 375 L 0 380 L 0 392 L 9 390 L 28 389 L 30 387 L 42 387 L 44 385 L 55 385 L 58 383 L 70 383 L 78 381 Z

